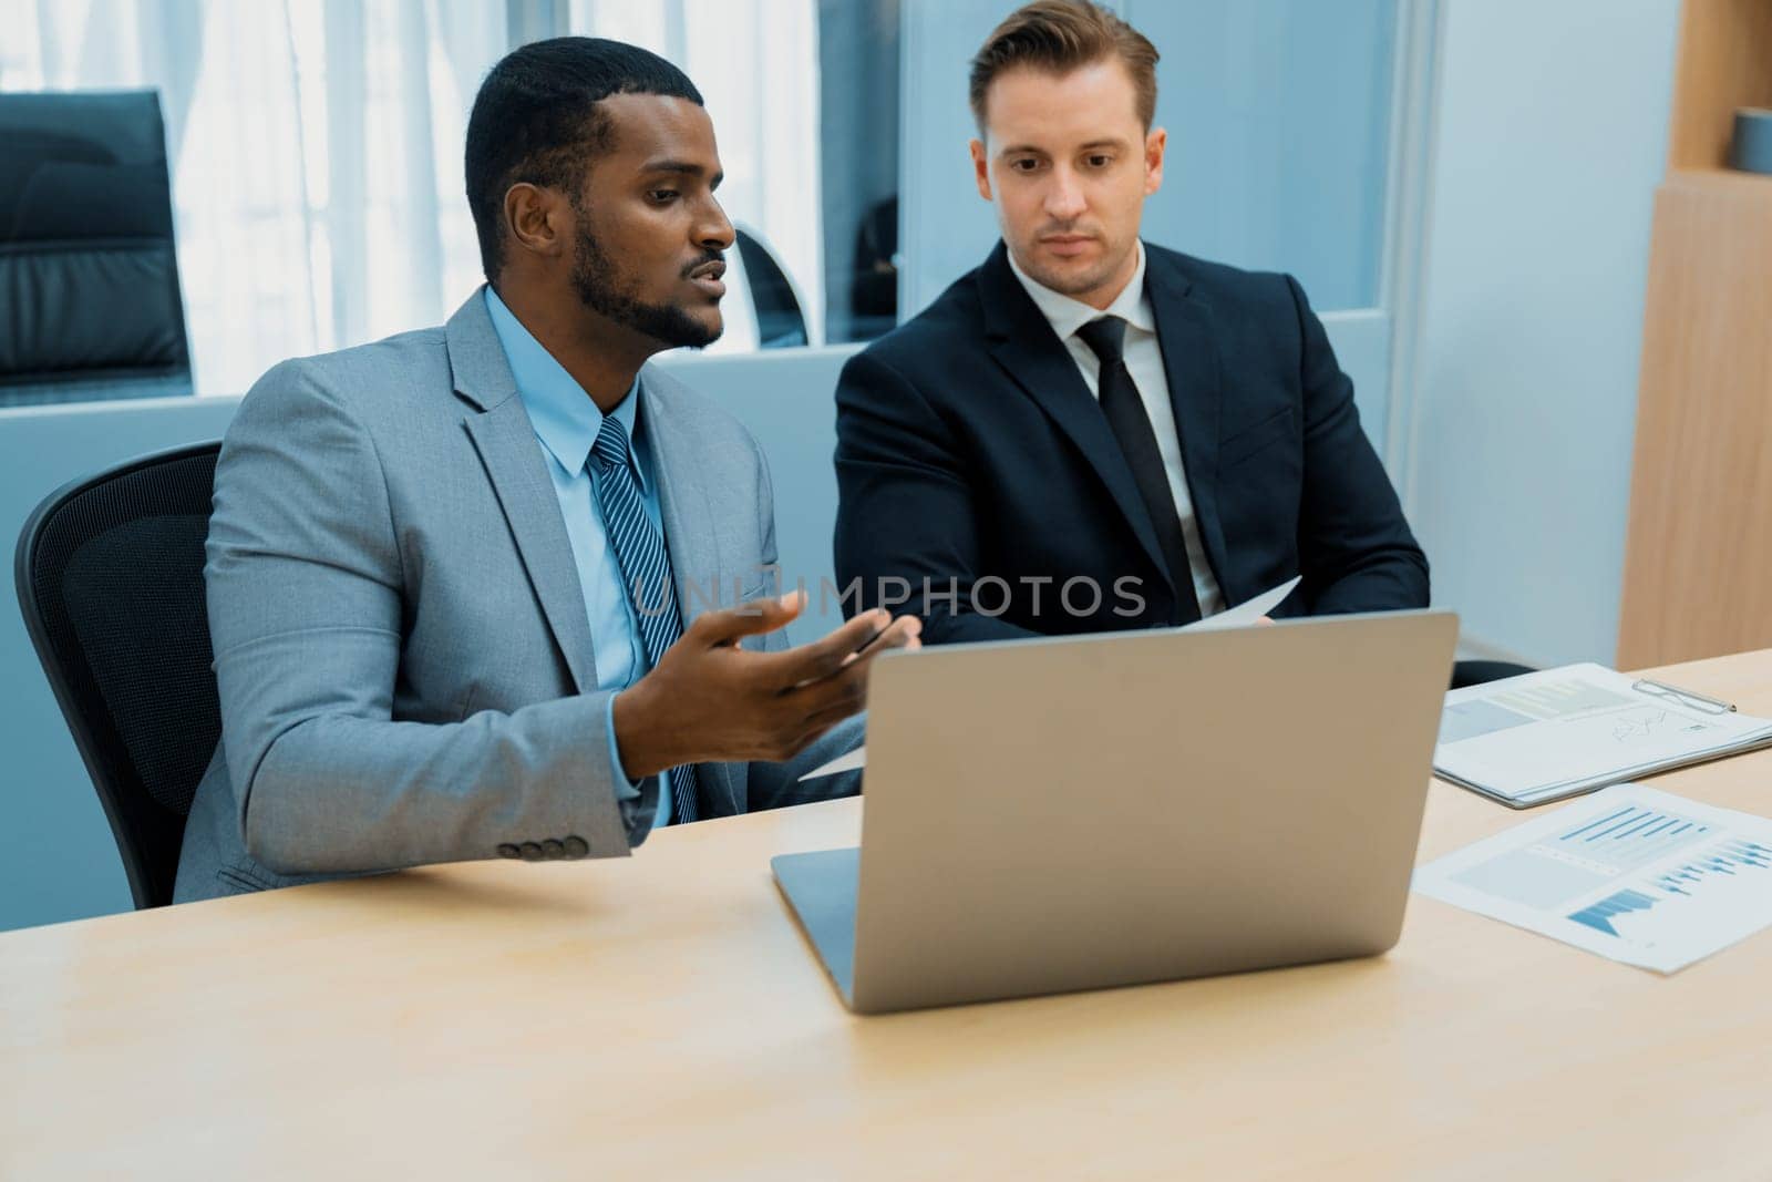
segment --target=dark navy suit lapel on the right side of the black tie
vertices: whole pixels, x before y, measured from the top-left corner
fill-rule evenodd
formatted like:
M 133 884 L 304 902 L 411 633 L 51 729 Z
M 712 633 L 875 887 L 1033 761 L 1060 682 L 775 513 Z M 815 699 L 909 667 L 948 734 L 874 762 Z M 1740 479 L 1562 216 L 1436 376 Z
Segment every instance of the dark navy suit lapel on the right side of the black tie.
M 1157 346 L 1170 383 L 1175 429 L 1182 436 L 1182 466 L 1194 502 L 1194 523 L 1212 571 L 1224 569 L 1224 532 L 1217 514 L 1217 443 L 1223 385 L 1212 312 L 1189 298 L 1191 284 L 1173 264 L 1146 246 L 1145 289 L 1157 314 Z M 1219 579 L 1223 585 L 1223 578 Z

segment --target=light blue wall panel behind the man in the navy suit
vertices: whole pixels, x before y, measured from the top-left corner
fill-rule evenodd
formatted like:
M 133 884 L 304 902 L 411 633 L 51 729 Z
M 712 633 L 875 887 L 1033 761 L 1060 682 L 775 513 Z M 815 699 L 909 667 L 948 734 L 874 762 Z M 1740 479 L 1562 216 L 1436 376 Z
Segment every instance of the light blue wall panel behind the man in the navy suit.
M 900 307 L 983 259 L 996 218 L 966 144 L 968 60 L 1015 0 L 905 0 Z M 1396 0 L 1122 0 L 1157 51 L 1155 243 L 1290 271 L 1318 308 L 1379 303 Z

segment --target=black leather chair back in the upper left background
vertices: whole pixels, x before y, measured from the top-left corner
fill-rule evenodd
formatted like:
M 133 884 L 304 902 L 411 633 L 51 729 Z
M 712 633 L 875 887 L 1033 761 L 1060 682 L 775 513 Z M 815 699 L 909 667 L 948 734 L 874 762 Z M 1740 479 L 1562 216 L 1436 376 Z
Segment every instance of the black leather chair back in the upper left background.
M 152 90 L 0 94 L 0 406 L 191 393 Z

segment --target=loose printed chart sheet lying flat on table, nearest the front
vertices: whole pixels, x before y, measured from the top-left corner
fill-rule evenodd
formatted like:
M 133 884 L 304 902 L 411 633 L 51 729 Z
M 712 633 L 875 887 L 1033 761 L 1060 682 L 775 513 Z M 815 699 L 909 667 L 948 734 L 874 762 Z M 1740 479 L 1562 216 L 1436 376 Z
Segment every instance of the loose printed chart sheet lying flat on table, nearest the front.
M 1414 888 L 1673 973 L 1772 923 L 1772 820 L 1627 783 L 1419 867 Z

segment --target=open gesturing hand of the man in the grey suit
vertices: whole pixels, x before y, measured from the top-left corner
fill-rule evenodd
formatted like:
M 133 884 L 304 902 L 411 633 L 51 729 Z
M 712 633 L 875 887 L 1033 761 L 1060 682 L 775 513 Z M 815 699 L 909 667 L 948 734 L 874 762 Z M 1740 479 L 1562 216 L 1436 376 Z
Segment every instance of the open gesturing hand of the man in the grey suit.
M 634 780 L 709 760 L 783 760 L 867 705 L 868 666 L 916 649 L 921 620 L 865 611 L 787 652 L 746 652 L 744 636 L 783 627 L 804 592 L 707 611 L 657 666 L 615 696 L 615 741 Z

